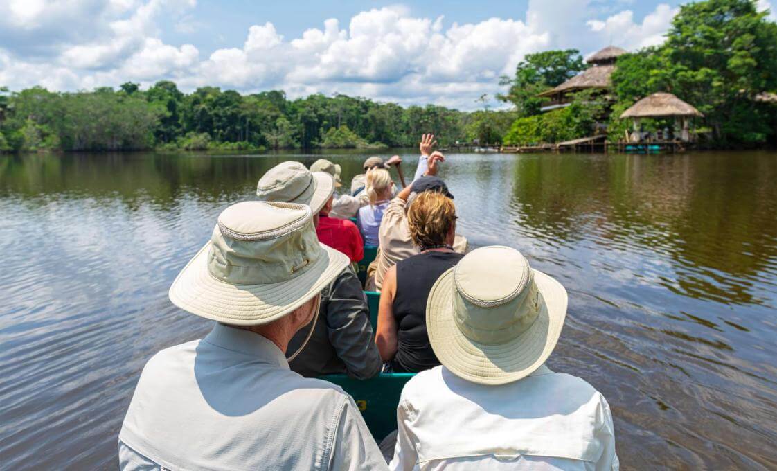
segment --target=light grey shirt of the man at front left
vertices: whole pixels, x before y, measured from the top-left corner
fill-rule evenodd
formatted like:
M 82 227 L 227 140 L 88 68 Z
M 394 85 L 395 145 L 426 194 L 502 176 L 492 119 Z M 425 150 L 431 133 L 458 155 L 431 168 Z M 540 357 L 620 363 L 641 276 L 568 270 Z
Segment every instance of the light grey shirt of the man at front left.
M 385 469 L 352 399 L 291 372 L 259 334 L 217 324 L 143 369 L 121 469 Z

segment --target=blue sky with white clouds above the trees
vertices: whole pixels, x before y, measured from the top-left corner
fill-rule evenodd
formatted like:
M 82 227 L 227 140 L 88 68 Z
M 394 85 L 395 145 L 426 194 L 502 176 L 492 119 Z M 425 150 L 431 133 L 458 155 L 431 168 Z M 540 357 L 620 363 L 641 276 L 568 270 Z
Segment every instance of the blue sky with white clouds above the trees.
M 524 54 L 660 43 L 679 3 L 0 0 L 0 85 L 170 79 L 185 91 L 340 92 L 468 110 Z

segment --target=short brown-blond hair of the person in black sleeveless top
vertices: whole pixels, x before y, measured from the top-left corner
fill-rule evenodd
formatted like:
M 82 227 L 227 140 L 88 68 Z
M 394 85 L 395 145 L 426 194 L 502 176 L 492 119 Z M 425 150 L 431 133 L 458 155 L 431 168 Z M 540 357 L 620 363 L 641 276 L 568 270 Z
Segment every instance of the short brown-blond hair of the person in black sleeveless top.
M 418 194 L 407 211 L 410 237 L 419 247 L 443 245 L 455 221 L 453 200 L 437 191 Z

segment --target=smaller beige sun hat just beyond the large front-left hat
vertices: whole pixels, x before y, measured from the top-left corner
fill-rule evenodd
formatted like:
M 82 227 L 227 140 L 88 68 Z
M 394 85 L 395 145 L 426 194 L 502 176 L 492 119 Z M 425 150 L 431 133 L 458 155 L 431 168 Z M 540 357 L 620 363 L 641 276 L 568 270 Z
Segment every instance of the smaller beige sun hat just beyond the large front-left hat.
M 256 184 L 256 196 L 262 201 L 307 204 L 319 214 L 335 192 L 334 177 L 326 172 L 311 172 L 300 162 L 280 162 L 267 170 Z

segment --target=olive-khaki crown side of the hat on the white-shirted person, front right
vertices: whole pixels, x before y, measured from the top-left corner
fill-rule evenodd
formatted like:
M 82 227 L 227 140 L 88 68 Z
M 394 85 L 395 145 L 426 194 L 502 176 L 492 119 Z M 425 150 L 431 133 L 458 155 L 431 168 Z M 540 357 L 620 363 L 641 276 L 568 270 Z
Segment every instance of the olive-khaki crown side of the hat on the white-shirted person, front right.
M 521 295 L 500 305 L 476 305 L 457 291 L 453 296 L 458 330 L 479 344 L 504 344 L 526 332 L 542 310 L 540 292 L 532 281 Z

